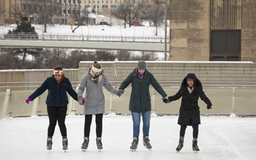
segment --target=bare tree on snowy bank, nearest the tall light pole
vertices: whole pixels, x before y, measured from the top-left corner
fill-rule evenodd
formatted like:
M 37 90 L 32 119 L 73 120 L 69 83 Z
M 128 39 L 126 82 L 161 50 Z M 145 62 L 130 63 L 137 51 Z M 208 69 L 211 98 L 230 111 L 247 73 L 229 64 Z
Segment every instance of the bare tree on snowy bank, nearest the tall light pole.
M 157 26 L 159 26 L 162 17 L 164 16 L 164 6 L 163 5 L 151 5 L 150 0 L 147 0 L 147 3 L 143 5 L 143 19 L 150 19 L 156 27 L 157 35 Z

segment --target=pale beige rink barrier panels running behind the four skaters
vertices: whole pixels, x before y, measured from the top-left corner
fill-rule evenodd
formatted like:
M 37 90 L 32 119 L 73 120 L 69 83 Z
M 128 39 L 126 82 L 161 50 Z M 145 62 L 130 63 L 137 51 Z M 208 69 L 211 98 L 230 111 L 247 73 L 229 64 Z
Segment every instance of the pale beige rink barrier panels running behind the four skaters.
M 121 82 L 112 81 L 110 83 L 112 86 L 118 88 Z M 175 95 L 175 93 L 179 91 L 179 84 L 159 83 L 168 96 Z M 212 109 L 207 109 L 207 105 L 204 101 L 199 99 L 198 104 L 200 106 L 201 115 L 256 115 L 255 83 L 207 84 L 207 82 L 205 82 L 203 86 L 205 95 L 207 95 L 212 102 Z M 6 92 L 0 92 L 0 119 L 18 116 L 47 115 L 47 106 L 45 104 L 47 91 L 32 102 L 29 102 L 29 104 L 26 104 L 25 100 L 28 99 L 29 95 L 35 92 L 35 90 L 12 91 L 12 87 L 15 88 L 18 86 L 11 86 L 10 88 L 6 86 Z M 77 85 L 73 85 L 73 87 L 76 88 L 75 90 L 77 92 Z M 1 86 L 1 88 L 4 87 Z M 125 88 L 125 93 L 121 97 L 109 93 L 105 88 L 103 88 L 103 92 L 105 97 L 105 113 L 131 113 L 129 111 L 131 86 Z M 150 87 L 150 98 L 152 113 L 156 113 L 157 115 L 179 115 L 181 99 L 175 100 L 170 104 L 164 104 L 161 95 L 159 95 L 159 93 L 157 93 L 152 87 Z M 70 95 L 68 95 L 68 101 L 67 115 L 83 115 L 83 106 L 79 105 L 79 103 L 72 99 Z

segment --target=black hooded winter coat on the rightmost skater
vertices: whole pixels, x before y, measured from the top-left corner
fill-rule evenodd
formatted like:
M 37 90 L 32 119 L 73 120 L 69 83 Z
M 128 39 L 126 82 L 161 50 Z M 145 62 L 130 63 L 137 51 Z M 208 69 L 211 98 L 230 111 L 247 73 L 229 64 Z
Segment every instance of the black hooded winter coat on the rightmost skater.
M 186 79 L 193 78 L 195 79 L 194 83 L 196 83 L 196 88 L 198 90 L 198 95 L 196 95 L 196 92 L 194 89 L 193 92 L 189 93 L 187 89 L 187 81 Z M 194 85 L 195 86 L 195 85 Z M 182 95 L 183 88 L 186 88 L 185 92 Z M 180 113 L 179 113 L 179 125 L 196 125 L 201 124 L 200 122 L 200 111 L 198 106 L 198 99 L 199 97 L 201 100 L 204 100 L 204 102 L 207 104 L 207 106 L 212 106 L 211 101 L 206 97 L 202 83 L 199 81 L 199 79 L 195 76 L 195 74 L 188 74 L 186 77 L 184 77 L 180 90 L 175 95 L 170 96 L 169 100 L 172 102 L 173 100 L 180 99 Z

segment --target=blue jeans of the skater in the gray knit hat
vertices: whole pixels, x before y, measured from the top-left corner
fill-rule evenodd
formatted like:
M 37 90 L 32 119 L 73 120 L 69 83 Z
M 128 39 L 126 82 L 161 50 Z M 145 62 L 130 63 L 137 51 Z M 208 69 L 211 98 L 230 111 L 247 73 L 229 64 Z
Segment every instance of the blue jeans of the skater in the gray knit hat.
M 140 113 L 131 112 L 132 113 L 132 122 L 133 122 L 133 136 L 139 137 L 140 135 Z M 150 126 L 150 115 L 151 111 L 147 111 L 141 113 L 143 120 L 143 137 L 148 136 L 149 126 Z

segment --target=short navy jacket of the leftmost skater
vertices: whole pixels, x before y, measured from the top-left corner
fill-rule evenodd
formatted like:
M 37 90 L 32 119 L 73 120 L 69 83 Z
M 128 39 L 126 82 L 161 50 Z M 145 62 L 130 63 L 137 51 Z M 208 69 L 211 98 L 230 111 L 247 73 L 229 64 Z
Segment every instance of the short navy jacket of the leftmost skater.
M 67 92 L 74 100 L 77 100 L 77 93 L 73 90 L 72 85 L 67 77 L 63 77 L 59 84 L 53 75 L 52 77 L 47 77 L 44 83 L 39 88 L 37 88 L 35 92 L 29 96 L 29 98 L 34 100 L 39 95 L 42 95 L 45 90 L 48 90 L 47 98 L 45 101 L 47 106 L 67 106 Z

